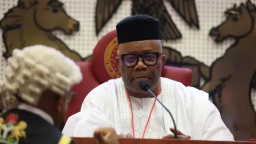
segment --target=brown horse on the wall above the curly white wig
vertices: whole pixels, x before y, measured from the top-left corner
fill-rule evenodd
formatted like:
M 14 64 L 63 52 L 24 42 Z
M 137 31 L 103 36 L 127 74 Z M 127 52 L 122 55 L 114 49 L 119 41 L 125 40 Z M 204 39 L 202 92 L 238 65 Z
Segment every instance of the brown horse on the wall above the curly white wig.
M 9 58 L 15 48 L 44 44 L 75 61 L 84 60 L 52 34 L 53 30 L 61 30 L 66 35 L 79 30 L 79 22 L 70 18 L 62 6 L 58 0 L 19 0 L 0 21 L 6 48 L 4 58 Z

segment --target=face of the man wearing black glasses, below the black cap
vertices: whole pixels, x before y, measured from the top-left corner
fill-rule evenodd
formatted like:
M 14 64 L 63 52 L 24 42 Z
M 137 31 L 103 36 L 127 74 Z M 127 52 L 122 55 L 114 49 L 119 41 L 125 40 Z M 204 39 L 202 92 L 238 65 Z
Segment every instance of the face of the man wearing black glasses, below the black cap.
M 126 89 L 133 93 L 143 93 L 138 85 L 141 80 L 147 81 L 151 90 L 155 89 L 161 77 L 162 65 L 165 62 L 161 41 L 146 40 L 123 43 L 119 44 L 118 51 L 119 55 L 125 54 L 116 60 Z M 138 57 L 141 54 L 142 57 Z

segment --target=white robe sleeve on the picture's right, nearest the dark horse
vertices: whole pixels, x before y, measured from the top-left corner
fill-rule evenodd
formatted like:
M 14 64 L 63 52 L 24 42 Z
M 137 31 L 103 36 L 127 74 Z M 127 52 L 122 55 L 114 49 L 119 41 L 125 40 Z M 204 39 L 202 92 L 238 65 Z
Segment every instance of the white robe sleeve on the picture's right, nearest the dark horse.
M 194 87 L 187 87 L 186 90 L 186 95 L 190 97 L 191 134 L 195 134 L 195 139 L 234 141 L 219 110 L 209 100 L 209 94 Z

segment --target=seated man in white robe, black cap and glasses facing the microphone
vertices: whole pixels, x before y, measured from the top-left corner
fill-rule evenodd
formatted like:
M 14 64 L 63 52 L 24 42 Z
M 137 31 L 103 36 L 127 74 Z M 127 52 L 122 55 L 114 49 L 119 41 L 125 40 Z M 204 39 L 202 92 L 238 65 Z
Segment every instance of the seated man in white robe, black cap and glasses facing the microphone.
M 117 23 L 122 78 L 110 79 L 93 89 L 81 111 L 69 117 L 62 133 L 70 137 L 93 137 L 98 127 L 114 127 L 117 134 L 134 138 L 174 138 L 173 122 L 166 110 L 138 83 L 150 90 L 170 109 L 177 123 L 178 138 L 234 141 L 208 94 L 161 77 L 165 55 L 159 21 L 134 15 Z

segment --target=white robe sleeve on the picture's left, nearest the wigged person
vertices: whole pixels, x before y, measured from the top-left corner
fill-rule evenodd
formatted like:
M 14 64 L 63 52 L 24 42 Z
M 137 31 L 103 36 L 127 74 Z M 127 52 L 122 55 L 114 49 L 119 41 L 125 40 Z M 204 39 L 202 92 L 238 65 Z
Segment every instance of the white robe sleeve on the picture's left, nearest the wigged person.
M 81 111 L 68 118 L 62 133 L 69 137 L 93 137 L 94 131 L 100 127 L 114 127 L 109 118 L 112 109 L 108 94 L 105 84 L 87 94 Z

